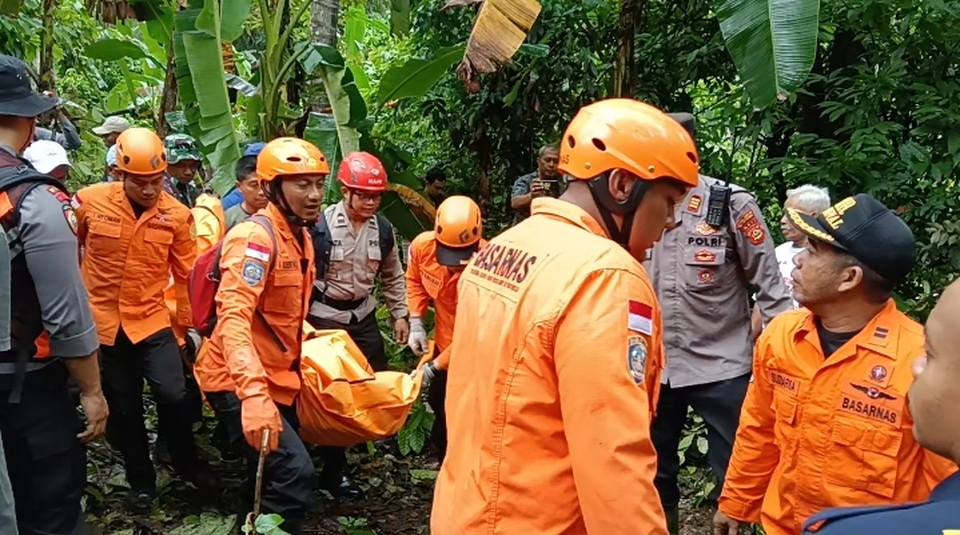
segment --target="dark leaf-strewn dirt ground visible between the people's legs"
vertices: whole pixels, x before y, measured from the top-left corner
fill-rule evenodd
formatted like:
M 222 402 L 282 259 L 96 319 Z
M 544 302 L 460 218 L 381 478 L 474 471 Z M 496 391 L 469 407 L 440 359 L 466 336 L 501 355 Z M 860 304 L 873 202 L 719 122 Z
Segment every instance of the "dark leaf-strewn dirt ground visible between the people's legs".
M 201 443 L 203 440 L 201 439 Z M 200 492 L 161 468 L 158 499 L 150 515 L 135 517 L 123 507 L 126 490 L 119 458 L 107 446 L 90 450 L 85 496 L 94 535 L 230 535 L 242 464 L 219 461 L 216 450 L 201 444 L 230 488 Z M 429 446 L 428 446 L 429 448 Z M 359 450 L 359 451 L 358 451 Z M 337 502 L 320 494 L 308 516 L 311 535 L 428 534 L 437 463 L 432 452 L 402 457 L 394 444 L 378 443 L 372 454 L 354 448 L 348 459 L 363 496 Z M 317 459 L 319 465 L 319 459 Z M 682 535 L 710 535 L 712 510 L 681 506 Z

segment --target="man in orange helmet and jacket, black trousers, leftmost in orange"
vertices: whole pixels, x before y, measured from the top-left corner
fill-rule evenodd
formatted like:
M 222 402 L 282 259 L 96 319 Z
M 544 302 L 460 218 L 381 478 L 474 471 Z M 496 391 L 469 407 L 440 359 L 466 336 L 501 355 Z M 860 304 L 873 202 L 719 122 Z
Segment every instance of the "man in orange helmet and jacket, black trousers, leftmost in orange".
M 123 457 L 127 506 L 150 510 L 156 472 L 143 421 L 143 380 L 157 399 L 159 430 L 173 466 L 199 486 L 218 486 L 197 458 L 180 350 L 163 291 L 172 273 L 180 324 L 190 324 L 187 275 L 196 258 L 190 209 L 163 191 L 166 159 L 152 131 L 131 128 L 117 138 L 122 182 L 86 187 L 74 196 L 83 280 L 100 335 L 103 391 L 110 406 L 107 436 Z

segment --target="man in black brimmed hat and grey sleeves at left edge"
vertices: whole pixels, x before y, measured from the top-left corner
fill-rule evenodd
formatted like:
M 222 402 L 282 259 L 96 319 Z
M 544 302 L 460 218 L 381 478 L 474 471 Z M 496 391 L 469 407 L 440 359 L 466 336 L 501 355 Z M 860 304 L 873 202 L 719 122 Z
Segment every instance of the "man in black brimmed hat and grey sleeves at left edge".
M 76 217 L 62 184 L 19 156 L 34 139 L 36 117 L 55 105 L 33 91 L 22 61 L 0 55 L 0 223 L 16 304 L 10 348 L 0 351 L 0 429 L 21 533 L 80 528 L 83 442 L 102 434 L 107 420 Z M 68 377 L 80 387 L 86 428 Z

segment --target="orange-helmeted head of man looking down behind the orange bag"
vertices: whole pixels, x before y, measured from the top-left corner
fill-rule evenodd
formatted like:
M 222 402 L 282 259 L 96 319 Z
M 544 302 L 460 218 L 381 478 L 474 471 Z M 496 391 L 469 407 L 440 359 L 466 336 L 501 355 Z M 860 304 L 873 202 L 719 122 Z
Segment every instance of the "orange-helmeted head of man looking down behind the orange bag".
M 433 227 L 437 239 L 437 262 L 463 266 L 480 247 L 483 219 L 473 199 L 454 195 L 440 203 Z

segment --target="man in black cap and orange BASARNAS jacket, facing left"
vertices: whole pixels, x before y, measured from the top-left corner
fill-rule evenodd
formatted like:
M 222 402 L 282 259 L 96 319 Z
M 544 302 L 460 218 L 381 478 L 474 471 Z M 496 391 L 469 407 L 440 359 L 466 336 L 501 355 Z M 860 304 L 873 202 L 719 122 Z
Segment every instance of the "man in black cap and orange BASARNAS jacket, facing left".
M 828 507 L 924 500 L 957 468 L 917 443 L 906 405 L 923 328 L 890 293 L 913 268 L 910 228 L 863 194 L 787 216 L 809 238 L 792 275 L 806 308 L 757 342 L 714 518 L 722 535 L 741 522 L 793 535 Z

